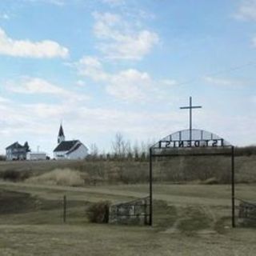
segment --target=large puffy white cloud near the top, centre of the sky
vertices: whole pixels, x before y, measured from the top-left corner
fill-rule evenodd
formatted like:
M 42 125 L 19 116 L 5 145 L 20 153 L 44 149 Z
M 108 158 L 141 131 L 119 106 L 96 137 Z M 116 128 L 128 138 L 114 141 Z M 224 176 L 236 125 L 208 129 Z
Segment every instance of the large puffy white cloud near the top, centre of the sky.
M 119 15 L 94 13 L 94 19 L 98 48 L 107 58 L 140 60 L 159 42 L 158 34 L 138 30 Z

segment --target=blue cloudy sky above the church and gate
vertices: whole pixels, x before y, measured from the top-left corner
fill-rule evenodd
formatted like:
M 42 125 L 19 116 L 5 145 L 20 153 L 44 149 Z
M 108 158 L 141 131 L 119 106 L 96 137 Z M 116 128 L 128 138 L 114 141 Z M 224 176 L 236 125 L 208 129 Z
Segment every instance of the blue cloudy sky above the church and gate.
M 255 0 L 1 0 L 0 154 L 193 127 L 256 144 Z

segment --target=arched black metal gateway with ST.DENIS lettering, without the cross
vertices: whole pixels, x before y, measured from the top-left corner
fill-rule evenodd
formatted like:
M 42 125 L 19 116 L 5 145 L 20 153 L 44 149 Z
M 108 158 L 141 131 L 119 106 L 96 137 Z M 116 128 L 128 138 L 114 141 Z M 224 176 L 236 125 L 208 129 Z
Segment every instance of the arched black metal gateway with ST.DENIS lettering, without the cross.
M 216 150 L 218 149 L 218 150 Z M 206 130 L 179 130 L 162 138 L 150 147 L 150 226 L 153 225 L 153 166 L 155 157 L 202 155 L 230 155 L 231 159 L 231 216 L 232 226 L 235 227 L 234 205 L 234 146 Z

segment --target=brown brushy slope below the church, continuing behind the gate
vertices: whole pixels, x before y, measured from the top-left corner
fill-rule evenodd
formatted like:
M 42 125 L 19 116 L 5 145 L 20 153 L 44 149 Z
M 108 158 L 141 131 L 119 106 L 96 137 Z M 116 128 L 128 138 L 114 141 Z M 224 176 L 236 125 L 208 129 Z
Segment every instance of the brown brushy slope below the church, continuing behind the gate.
M 230 157 L 202 156 L 162 158 L 154 160 L 154 182 L 230 182 Z M 256 155 L 239 154 L 235 158 L 236 182 L 256 182 Z M 0 178 L 6 172 L 22 172 L 23 178 L 40 175 L 55 169 L 78 170 L 85 184 L 134 184 L 147 182 L 148 161 L 132 159 L 83 161 L 22 161 L 0 162 Z M 22 177 L 18 177 L 22 178 Z

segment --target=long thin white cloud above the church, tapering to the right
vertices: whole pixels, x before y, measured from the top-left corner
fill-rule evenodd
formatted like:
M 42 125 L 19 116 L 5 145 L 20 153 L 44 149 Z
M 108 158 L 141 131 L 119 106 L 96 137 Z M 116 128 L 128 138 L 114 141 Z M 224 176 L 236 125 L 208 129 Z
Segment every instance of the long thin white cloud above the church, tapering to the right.
M 20 81 L 6 82 L 6 90 L 17 94 L 51 94 L 65 101 L 82 101 L 87 99 L 85 95 L 76 94 L 73 91 L 63 89 L 42 78 L 22 78 Z

